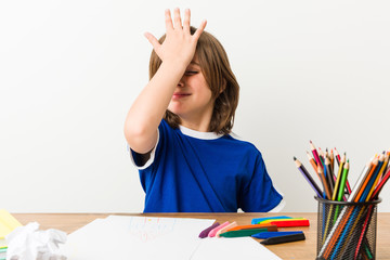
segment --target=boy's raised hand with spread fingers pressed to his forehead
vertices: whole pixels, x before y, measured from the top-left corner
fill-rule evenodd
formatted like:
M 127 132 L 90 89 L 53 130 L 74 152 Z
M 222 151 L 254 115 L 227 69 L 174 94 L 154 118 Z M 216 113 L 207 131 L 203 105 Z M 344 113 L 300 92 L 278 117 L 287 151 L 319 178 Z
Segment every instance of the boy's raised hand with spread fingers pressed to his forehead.
M 204 31 L 207 22 L 203 21 L 195 34 L 191 35 L 190 21 L 191 12 L 188 9 L 185 10 L 183 23 L 178 8 L 174 9 L 173 21 L 170 10 L 166 10 L 165 23 L 167 32 L 162 44 L 159 43 L 152 34 L 145 32 L 146 39 L 151 42 L 153 49 L 162 62 L 169 61 L 179 64 L 182 63 L 186 66 L 192 61 L 195 54 L 197 40 Z

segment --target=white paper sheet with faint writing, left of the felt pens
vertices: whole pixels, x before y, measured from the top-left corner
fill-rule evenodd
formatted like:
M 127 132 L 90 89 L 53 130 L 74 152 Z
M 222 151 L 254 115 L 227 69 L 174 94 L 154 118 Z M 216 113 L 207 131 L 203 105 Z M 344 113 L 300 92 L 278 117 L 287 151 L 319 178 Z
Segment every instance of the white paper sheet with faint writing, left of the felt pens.
M 214 220 L 110 216 L 68 236 L 64 253 L 70 260 L 169 259 L 193 255 L 199 233 Z

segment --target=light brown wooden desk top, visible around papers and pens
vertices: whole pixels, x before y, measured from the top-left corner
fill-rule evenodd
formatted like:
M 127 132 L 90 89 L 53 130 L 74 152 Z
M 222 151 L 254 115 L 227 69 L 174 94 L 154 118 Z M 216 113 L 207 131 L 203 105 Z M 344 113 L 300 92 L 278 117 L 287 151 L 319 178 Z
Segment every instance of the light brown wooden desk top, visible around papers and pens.
M 286 214 L 302 217 L 310 220 L 308 227 L 286 227 L 285 230 L 302 230 L 307 239 L 302 242 L 286 243 L 266 246 L 282 259 L 313 260 L 316 256 L 316 213 L 117 213 L 126 216 L 174 217 L 216 219 L 219 222 L 236 221 L 238 224 L 250 224 L 251 219 L 268 216 Z M 23 224 L 31 221 L 40 223 L 40 229 L 58 229 L 72 233 L 96 218 L 105 218 L 108 213 L 14 213 Z M 200 231 L 199 231 L 200 232 Z M 390 259 L 390 213 L 378 213 L 376 259 Z

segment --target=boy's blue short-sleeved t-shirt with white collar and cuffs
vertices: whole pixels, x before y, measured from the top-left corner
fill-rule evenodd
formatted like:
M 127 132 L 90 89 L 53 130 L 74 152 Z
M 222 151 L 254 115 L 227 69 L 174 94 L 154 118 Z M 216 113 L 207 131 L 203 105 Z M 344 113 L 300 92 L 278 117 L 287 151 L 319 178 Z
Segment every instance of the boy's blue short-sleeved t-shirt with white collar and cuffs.
M 283 199 L 255 145 L 231 135 L 172 129 L 165 120 L 139 171 L 144 212 L 266 212 Z

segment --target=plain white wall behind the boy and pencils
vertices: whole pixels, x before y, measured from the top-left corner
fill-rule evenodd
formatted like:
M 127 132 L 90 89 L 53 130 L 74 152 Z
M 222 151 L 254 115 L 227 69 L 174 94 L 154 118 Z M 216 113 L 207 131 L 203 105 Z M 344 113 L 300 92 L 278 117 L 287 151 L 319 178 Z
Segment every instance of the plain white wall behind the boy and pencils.
M 284 211 L 316 211 L 292 160 L 313 173 L 310 140 L 347 152 L 351 184 L 390 148 L 389 1 L 1 1 L 0 208 L 143 210 L 122 128 L 148 80 L 143 34 L 161 36 L 176 6 L 225 47 L 242 88 L 234 132 L 262 152 Z

